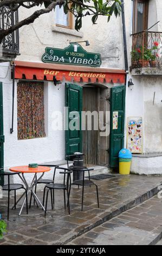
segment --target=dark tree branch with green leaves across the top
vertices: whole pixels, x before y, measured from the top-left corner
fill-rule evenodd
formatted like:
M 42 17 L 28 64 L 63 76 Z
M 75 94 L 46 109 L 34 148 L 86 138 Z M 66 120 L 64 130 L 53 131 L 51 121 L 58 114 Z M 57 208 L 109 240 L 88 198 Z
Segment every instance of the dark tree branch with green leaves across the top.
M 4 20 L 4 25 L 2 23 L 2 27 L 0 27 L 0 44 L 5 36 L 13 33 L 24 25 L 29 25 L 30 23 L 33 23 L 42 14 L 50 13 L 50 11 L 55 9 L 56 5 L 59 5 L 60 7 L 63 6 L 65 14 L 70 11 L 70 13 L 75 16 L 75 29 L 77 31 L 82 27 L 82 17 L 85 17 L 87 15 L 93 15 L 93 24 L 96 24 L 96 20 L 100 15 L 108 16 L 107 21 L 109 21 L 113 13 L 116 17 L 120 15 L 120 0 L 106 0 L 106 2 L 103 2 L 100 0 L 93 0 L 92 2 L 90 2 L 90 0 L 0 0 L 0 11 L 2 11 L 2 15 L 3 11 L 4 13 L 6 11 L 8 11 L 8 13 L 11 13 L 12 11 L 17 11 L 20 7 L 27 9 L 32 9 L 35 6 L 40 7 L 40 9 L 34 11 L 32 15 L 22 21 L 18 21 L 14 25 L 7 25 L 5 23 L 5 17 L 2 16 L 2 20 Z M 41 8 L 42 4 L 44 4 L 45 8 Z

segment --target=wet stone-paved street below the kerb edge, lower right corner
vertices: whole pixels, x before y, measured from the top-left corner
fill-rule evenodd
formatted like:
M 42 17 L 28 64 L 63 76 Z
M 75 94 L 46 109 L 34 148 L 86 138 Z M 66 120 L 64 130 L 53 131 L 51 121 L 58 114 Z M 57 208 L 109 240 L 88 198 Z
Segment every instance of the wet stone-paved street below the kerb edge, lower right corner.
M 68 245 L 154 245 L 161 236 L 162 199 L 155 196 Z M 162 245 L 162 240 L 157 245 Z

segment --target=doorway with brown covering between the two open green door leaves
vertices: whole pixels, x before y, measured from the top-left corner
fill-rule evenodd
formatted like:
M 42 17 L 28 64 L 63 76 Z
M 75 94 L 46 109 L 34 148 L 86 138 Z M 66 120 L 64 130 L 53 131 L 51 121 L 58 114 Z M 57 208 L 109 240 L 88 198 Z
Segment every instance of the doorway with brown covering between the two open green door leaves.
M 108 166 L 109 163 L 109 133 L 106 135 L 105 131 L 110 125 L 109 96 L 108 88 L 83 86 L 82 110 L 88 111 L 89 115 L 86 115 L 86 130 L 82 131 L 82 151 L 85 154 L 85 163 L 89 165 Z M 103 115 L 99 114 L 101 112 Z M 96 127 L 96 119 L 99 129 Z M 92 122 L 92 129 L 91 125 L 88 127 L 89 121 Z

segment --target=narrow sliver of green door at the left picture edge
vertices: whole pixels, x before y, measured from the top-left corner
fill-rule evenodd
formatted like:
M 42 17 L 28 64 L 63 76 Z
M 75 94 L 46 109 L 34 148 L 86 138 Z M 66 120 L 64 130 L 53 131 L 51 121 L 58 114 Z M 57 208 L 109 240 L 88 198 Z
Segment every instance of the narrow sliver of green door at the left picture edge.
M 0 168 L 4 167 L 4 135 L 3 135 L 3 88 L 0 82 Z M 2 171 L 1 171 L 2 172 Z M 3 186 L 4 180 L 0 176 L 0 185 Z

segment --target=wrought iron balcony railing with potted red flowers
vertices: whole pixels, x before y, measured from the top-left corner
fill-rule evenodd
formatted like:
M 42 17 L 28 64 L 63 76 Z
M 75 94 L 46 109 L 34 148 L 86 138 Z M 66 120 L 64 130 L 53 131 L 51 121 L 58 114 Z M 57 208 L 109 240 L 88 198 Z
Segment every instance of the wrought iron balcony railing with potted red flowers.
M 144 31 L 132 36 L 132 69 L 162 68 L 162 33 Z

